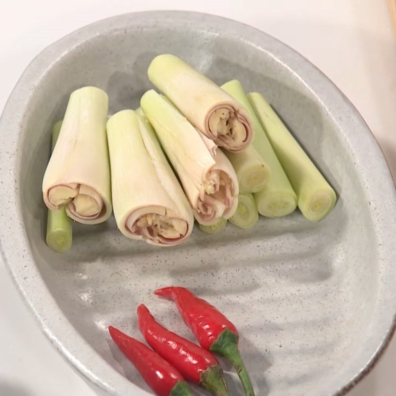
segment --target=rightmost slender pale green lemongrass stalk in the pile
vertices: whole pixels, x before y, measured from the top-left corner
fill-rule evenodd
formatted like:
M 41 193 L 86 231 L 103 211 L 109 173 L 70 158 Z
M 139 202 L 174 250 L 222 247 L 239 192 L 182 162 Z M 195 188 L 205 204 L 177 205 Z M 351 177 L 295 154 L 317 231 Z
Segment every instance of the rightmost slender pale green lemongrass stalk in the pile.
M 298 197 L 298 207 L 311 221 L 331 212 L 336 193 L 309 159 L 272 107 L 257 93 L 247 95 Z

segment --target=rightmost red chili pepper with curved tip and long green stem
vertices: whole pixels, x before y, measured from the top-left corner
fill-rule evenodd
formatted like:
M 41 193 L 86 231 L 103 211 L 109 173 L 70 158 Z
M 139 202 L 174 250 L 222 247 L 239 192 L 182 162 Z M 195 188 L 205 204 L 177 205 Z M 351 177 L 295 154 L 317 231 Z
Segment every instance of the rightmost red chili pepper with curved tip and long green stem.
M 184 323 L 192 330 L 201 347 L 225 356 L 235 367 L 247 396 L 254 396 L 253 386 L 241 353 L 236 327 L 213 305 L 198 298 L 188 289 L 169 287 L 155 291 L 160 297 L 173 300 Z

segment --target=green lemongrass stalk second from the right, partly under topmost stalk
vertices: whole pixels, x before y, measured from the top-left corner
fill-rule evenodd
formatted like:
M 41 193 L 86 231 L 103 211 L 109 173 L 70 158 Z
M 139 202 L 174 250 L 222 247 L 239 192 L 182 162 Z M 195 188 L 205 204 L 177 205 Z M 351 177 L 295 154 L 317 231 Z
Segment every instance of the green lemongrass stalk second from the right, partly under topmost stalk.
M 254 194 L 257 210 L 261 215 L 267 217 L 286 216 L 296 209 L 297 195 L 258 121 L 251 104 L 247 100 L 241 83 L 237 80 L 232 80 L 222 85 L 222 88 L 246 108 L 255 131 L 252 146 L 265 159 L 271 169 L 272 177 L 266 186 L 261 189 L 261 191 L 255 192 Z

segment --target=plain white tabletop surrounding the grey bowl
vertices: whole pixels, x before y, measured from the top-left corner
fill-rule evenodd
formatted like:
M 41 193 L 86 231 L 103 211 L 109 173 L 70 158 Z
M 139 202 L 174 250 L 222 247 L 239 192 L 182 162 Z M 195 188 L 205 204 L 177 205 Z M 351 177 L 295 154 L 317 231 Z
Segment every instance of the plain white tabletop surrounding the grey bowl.
M 4 1 L 0 109 L 28 63 L 53 41 L 96 20 L 147 9 L 227 16 L 297 49 L 354 103 L 396 175 L 396 40 L 386 0 Z M 1 396 L 93 396 L 36 326 L 2 264 L 0 350 Z M 395 367 L 396 340 L 350 395 L 394 396 Z

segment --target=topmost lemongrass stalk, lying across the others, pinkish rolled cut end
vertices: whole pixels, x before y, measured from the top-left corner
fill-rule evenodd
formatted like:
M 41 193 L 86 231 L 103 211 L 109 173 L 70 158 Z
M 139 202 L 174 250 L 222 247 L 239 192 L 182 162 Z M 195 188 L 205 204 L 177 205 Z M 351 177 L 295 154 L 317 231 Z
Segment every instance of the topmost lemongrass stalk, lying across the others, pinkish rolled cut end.
M 177 56 L 156 56 L 148 78 L 218 146 L 240 151 L 250 143 L 253 127 L 243 106 Z

